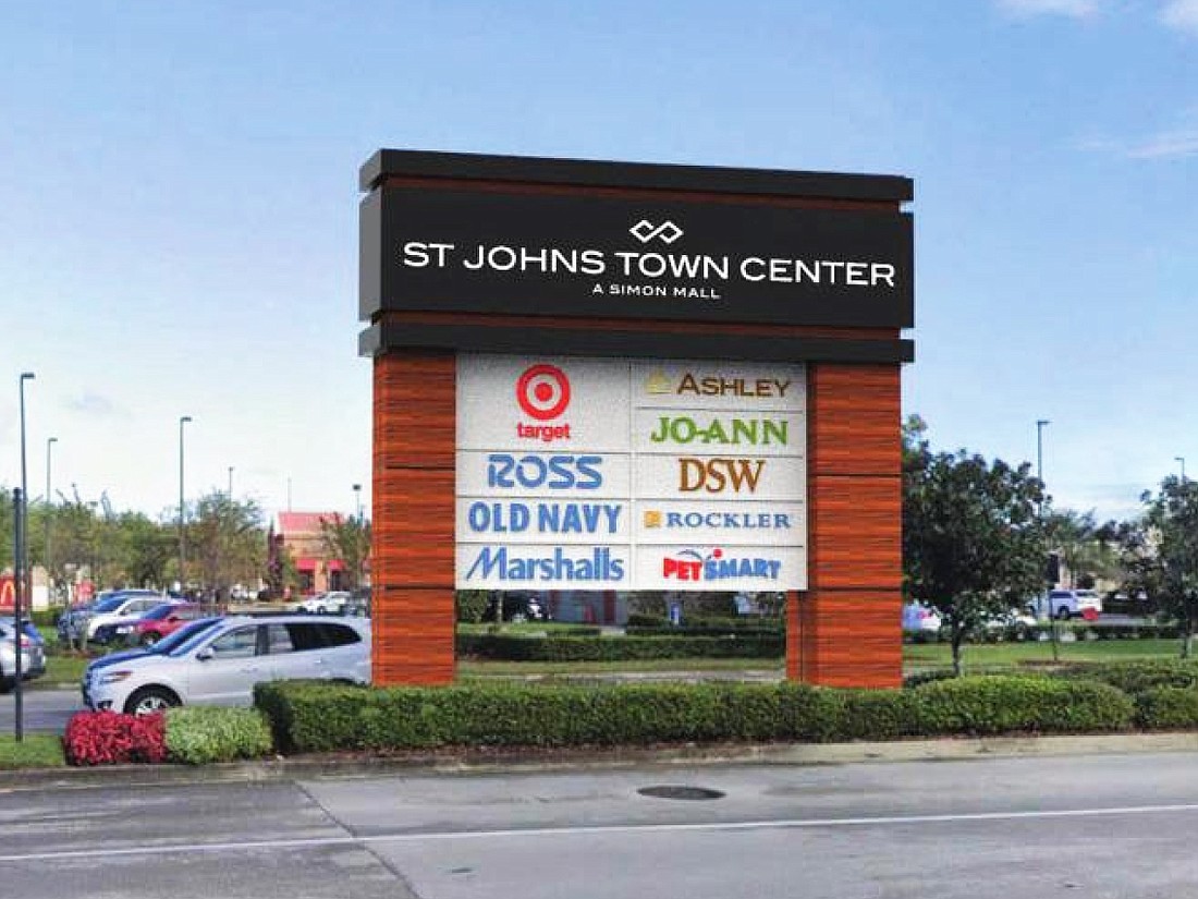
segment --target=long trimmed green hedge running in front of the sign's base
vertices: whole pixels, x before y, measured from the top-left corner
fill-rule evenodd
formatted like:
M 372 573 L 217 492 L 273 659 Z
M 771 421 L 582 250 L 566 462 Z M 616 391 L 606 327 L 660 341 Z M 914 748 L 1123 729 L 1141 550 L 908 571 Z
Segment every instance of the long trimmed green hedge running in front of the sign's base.
M 1131 726 L 1132 701 L 1101 683 L 972 677 L 909 690 L 801 683 L 474 683 L 363 688 L 259 684 L 284 752 L 437 747 L 831 742 L 914 735 L 1101 732 Z

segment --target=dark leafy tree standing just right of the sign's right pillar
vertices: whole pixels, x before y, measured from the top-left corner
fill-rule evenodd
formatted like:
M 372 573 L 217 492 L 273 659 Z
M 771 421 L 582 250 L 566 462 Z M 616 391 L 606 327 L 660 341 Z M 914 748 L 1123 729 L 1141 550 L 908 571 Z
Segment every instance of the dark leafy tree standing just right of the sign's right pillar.
M 904 592 L 940 614 L 960 675 L 966 638 L 1042 586 L 1043 494 L 1028 464 L 932 453 L 921 436 L 904 427 Z

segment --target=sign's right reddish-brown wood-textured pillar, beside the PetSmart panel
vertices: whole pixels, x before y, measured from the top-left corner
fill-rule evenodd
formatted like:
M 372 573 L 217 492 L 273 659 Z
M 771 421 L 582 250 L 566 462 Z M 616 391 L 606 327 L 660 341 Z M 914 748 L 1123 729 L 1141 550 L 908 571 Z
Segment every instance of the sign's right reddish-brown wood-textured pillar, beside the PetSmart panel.
M 788 596 L 791 680 L 902 683 L 900 418 L 897 364 L 809 367 L 809 589 Z

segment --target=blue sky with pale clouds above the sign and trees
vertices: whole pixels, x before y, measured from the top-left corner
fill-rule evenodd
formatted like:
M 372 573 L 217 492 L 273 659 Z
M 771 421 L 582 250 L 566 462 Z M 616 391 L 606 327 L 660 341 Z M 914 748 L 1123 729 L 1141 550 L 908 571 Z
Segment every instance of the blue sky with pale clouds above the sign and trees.
M 0 6 L 0 484 L 369 501 L 382 146 L 915 180 L 906 412 L 1100 517 L 1198 475 L 1198 0 Z

